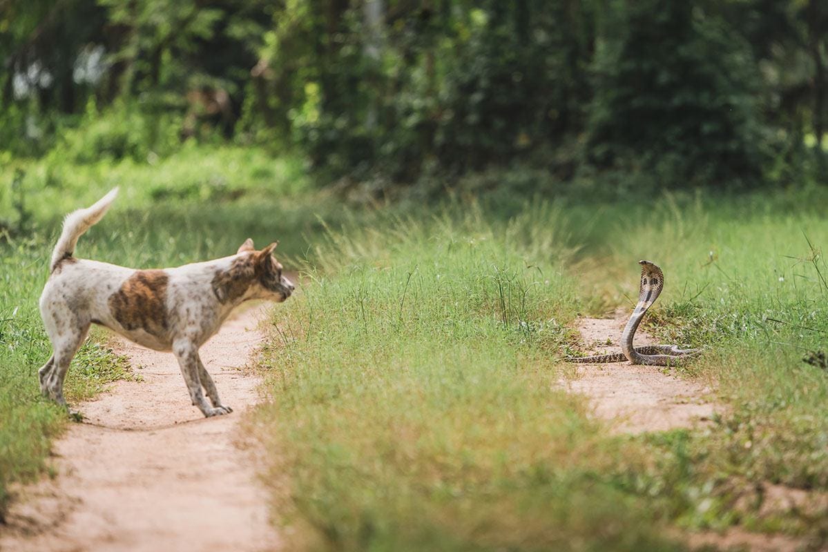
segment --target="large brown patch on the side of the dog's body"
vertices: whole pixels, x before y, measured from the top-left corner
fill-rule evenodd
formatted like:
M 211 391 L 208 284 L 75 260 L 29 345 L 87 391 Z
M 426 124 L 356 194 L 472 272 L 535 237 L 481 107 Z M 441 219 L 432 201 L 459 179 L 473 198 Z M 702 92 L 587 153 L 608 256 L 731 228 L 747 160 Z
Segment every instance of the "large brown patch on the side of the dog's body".
M 124 329 L 143 329 L 147 334 L 163 337 L 169 329 L 166 312 L 166 286 L 170 277 L 165 271 L 136 271 L 123 282 L 121 289 L 109 295 L 109 310 Z

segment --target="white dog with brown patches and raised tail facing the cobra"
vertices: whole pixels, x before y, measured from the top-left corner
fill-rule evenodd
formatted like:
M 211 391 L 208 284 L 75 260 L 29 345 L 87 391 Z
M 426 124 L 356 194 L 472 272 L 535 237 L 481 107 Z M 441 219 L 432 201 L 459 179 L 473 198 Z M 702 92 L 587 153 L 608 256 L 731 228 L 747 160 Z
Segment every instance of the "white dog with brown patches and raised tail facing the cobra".
M 101 324 L 144 347 L 172 351 L 193 405 L 205 416 L 228 414 L 199 358 L 199 348 L 219 331 L 236 306 L 250 299 L 284 301 L 293 284 L 272 256 L 248 239 L 231 257 L 165 268 L 135 270 L 73 257 L 78 238 L 106 213 L 112 190 L 88 209 L 69 214 L 51 257 L 51 276 L 41 295 L 41 316 L 54 349 L 38 372 L 41 391 L 65 405 L 66 371 L 89 324 Z M 205 400 L 204 391 L 213 406 Z

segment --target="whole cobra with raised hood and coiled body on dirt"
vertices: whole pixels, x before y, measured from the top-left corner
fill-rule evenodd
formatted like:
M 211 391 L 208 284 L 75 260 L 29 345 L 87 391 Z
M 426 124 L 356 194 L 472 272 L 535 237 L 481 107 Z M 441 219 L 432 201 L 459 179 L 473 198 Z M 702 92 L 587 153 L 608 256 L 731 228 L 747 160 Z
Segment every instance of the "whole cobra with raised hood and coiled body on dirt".
M 566 362 L 599 364 L 628 360 L 633 364 L 676 366 L 701 352 L 700 349 L 682 349 L 676 347 L 676 345 L 633 347 L 633 338 L 638 329 L 638 324 L 641 324 L 647 309 L 656 302 L 658 295 L 664 289 L 664 273 L 661 268 L 649 261 L 639 261 L 638 264 L 641 265 L 638 304 L 635 305 L 635 310 L 633 310 L 633 314 L 629 317 L 621 334 L 621 351 L 623 353 L 595 355 L 593 357 L 567 357 Z

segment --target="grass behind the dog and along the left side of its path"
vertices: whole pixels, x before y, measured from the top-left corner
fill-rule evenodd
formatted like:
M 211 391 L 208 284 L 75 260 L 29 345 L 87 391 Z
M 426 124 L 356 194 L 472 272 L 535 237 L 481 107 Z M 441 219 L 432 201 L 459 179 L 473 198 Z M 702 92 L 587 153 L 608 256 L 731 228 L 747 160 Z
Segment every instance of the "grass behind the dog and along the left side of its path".
M 7 160 L 8 161 L 8 160 Z M 232 254 L 245 238 L 281 239 L 301 257 L 319 217 L 343 216 L 335 200 L 308 189 L 301 166 L 264 151 L 191 148 L 149 163 L 72 166 L 47 157 L 0 168 L 0 519 L 8 484 L 42 473 L 66 415 L 39 396 L 36 372 L 51 354 L 37 299 L 61 218 L 114 185 L 113 210 L 81 238 L 77 255 L 127 266 L 174 266 Z M 93 333 L 67 378 L 70 402 L 131 377 L 123 358 Z

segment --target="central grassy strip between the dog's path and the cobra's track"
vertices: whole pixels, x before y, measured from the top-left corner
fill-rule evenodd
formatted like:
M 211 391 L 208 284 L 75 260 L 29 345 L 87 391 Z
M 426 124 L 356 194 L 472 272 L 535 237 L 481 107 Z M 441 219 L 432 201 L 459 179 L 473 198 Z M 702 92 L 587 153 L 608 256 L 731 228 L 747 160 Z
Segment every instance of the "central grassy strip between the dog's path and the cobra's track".
M 628 491 L 643 448 L 555 388 L 558 209 L 388 228 L 336 234 L 277 311 L 258 427 L 291 550 L 679 548 Z

